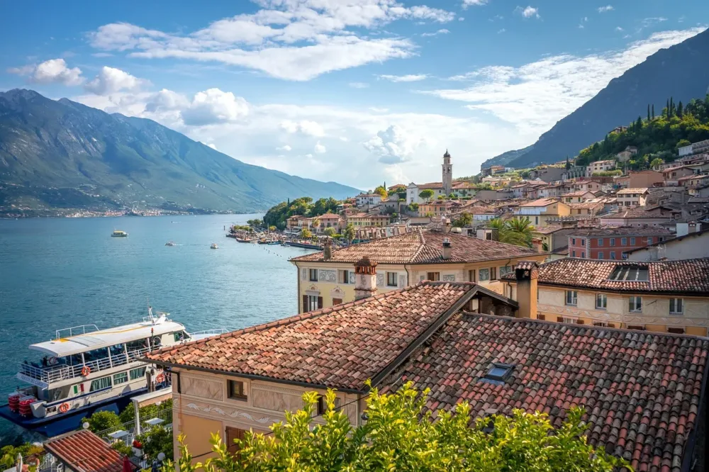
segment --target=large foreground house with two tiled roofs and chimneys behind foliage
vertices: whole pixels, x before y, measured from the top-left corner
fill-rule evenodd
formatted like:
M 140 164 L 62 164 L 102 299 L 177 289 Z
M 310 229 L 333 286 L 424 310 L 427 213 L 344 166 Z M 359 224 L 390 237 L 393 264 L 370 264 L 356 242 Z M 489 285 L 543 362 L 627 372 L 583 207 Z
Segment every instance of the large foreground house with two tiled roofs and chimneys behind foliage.
M 514 271 L 516 302 L 452 281 L 376 293 L 376 266 L 357 267 L 357 301 L 147 354 L 172 371 L 174 437 L 186 433 L 195 460 L 211 456 L 210 433 L 235 453 L 247 430 L 269 432 L 306 390 L 336 389 L 361 425 L 367 379 L 430 389 L 432 419 L 467 400 L 472 418 L 521 408 L 558 427 L 585 405 L 589 444 L 638 471 L 684 470 L 703 454 L 708 339 L 538 320 L 534 262 Z

